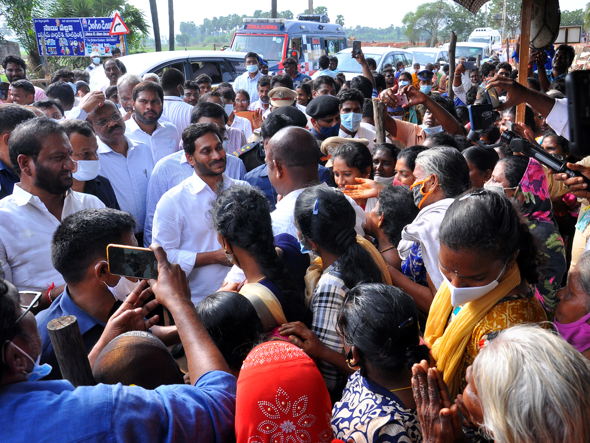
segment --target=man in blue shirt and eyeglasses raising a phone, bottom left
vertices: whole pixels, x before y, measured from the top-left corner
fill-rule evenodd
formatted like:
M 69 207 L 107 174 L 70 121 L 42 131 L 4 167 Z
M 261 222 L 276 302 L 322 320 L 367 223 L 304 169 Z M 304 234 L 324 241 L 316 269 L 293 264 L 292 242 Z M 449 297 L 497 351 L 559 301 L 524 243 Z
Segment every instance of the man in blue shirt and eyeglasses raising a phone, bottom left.
M 159 304 L 173 315 L 182 337 L 191 384 L 97 385 L 74 388 L 67 380 L 39 380 L 47 370 L 35 363 L 41 351 L 37 322 L 19 303 L 18 289 L 0 278 L 0 429 L 3 443 L 24 441 L 133 441 L 172 443 L 235 441 L 236 380 L 191 303 L 186 276 L 155 245 L 158 281 L 150 281 Z M 145 330 L 141 295 L 133 291 L 107 322 L 89 355 L 94 366 L 113 338 Z M 124 358 L 124 356 L 122 357 Z M 38 381 L 37 381 L 38 380 Z M 35 424 L 28 418 L 44 417 Z M 59 425 L 56 426 L 57 421 Z

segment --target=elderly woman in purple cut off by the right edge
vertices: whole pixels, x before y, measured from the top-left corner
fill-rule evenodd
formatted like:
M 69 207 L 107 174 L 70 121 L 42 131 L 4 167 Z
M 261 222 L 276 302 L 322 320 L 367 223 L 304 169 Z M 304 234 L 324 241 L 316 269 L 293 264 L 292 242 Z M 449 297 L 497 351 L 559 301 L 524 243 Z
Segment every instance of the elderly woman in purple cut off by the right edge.
M 559 297 L 553 326 L 565 340 L 590 360 L 590 252 L 585 252 L 568 276 Z

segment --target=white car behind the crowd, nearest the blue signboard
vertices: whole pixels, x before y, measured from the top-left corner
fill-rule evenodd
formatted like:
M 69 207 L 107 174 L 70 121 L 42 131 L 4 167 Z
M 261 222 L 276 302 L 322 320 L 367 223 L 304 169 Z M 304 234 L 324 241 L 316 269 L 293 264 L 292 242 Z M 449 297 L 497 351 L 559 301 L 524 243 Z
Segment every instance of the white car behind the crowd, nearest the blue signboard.
M 221 82 L 233 83 L 246 71 L 246 53 L 234 51 L 161 51 L 157 53 L 132 54 L 119 57 L 128 73 L 142 76 L 153 72 L 162 77 L 165 69 L 176 68 L 186 80 L 195 80 L 201 74 L 211 77 L 217 86 Z M 100 89 L 109 80 L 104 75 L 103 65 L 90 71 L 90 89 Z

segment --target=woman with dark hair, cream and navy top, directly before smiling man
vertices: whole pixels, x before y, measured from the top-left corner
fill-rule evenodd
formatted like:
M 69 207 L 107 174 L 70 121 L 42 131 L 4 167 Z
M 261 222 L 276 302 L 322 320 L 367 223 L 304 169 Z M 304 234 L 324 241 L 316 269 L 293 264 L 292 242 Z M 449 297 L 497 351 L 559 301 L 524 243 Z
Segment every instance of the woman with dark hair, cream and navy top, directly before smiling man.
M 306 268 L 309 259 L 299 251 L 292 259 L 297 240 L 289 234 L 277 236 L 276 245 L 270 207 L 262 191 L 246 185 L 227 188 L 215 200 L 211 217 L 227 259 L 246 276 L 245 284 L 237 289 L 254 305 L 265 332 L 287 321 L 309 324 L 311 312 L 305 308 L 303 291 L 294 284 L 281 258 L 289 255 L 290 268 L 297 269 Z

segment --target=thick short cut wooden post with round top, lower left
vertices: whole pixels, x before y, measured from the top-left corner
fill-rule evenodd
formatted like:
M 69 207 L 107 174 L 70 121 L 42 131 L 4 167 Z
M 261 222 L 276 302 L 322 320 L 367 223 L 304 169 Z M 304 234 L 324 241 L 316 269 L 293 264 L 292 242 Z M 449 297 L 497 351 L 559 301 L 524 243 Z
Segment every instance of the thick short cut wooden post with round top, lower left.
M 96 385 L 76 317 L 54 318 L 47 324 L 47 331 L 64 379 L 76 387 Z

